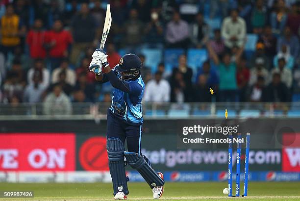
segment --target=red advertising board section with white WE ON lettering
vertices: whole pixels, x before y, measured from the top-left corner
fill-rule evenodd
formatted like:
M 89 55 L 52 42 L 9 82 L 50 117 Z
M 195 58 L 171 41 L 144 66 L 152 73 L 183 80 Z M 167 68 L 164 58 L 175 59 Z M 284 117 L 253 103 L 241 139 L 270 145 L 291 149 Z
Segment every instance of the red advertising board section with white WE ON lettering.
M 74 133 L 0 133 L 0 171 L 75 170 Z

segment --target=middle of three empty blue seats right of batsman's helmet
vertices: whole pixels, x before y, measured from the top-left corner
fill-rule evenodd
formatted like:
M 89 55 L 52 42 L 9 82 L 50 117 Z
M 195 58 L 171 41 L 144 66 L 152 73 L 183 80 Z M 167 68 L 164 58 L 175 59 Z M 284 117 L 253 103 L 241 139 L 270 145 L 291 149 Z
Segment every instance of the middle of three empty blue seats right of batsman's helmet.
M 165 50 L 165 70 L 167 73 L 172 72 L 173 67 L 178 66 L 178 57 L 184 53 L 183 49 Z

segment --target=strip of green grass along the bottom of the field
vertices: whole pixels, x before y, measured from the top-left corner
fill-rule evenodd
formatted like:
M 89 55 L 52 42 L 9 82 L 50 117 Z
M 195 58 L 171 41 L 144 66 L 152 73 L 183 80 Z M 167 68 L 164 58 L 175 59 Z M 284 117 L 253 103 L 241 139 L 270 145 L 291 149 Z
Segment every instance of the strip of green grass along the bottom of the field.
M 166 183 L 160 200 L 232 200 L 223 195 L 226 182 Z M 152 191 L 146 183 L 128 183 L 128 200 L 149 201 Z M 110 183 L 0 183 L 0 191 L 34 191 L 31 199 L 7 201 L 100 201 L 113 200 Z M 250 182 L 246 200 L 300 200 L 300 182 Z

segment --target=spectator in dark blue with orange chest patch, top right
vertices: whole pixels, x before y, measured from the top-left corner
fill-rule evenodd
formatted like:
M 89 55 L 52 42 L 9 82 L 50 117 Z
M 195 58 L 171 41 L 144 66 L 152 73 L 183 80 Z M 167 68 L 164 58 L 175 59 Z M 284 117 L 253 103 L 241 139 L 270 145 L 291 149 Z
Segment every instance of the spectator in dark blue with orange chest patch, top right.
M 270 23 L 275 33 L 281 33 L 286 24 L 287 14 L 284 0 L 277 0 L 275 10 L 271 13 Z

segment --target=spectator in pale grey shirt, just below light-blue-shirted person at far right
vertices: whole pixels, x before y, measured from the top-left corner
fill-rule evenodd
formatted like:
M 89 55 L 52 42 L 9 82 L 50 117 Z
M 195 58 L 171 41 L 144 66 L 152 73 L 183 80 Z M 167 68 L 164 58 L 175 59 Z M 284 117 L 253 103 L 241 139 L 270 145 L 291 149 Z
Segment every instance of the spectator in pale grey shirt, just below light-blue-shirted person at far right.
M 285 58 L 278 58 L 278 66 L 276 66 L 272 72 L 271 75 L 278 73 L 280 74 L 281 77 L 281 82 L 283 82 L 288 89 L 292 87 L 292 82 L 293 82 L 293 76 L 292 76 L 292 71 L 288 68 L 285 67 L 286 62 Z

